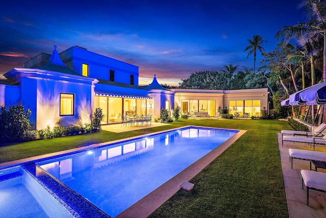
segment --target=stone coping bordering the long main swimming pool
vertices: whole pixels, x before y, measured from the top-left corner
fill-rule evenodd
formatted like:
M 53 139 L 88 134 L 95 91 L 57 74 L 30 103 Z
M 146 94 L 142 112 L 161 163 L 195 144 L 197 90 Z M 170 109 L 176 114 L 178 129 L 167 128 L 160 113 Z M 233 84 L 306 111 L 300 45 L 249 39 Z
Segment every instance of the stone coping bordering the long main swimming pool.
M 120 139 L 120 140 L 115 140 L 115 141 L 105 142 L 100 144 L 93 144 L 85 147 L 69 149 L 65 151 L 54 152 L 54 153 L 39 155 L 35 157 L 0 163 L 0 170 L 8 167 L 16 167 L 16 166 L 24 165 L 26 163 L 31 163 L 31 162 L 35 163 L 36 165 L 38 162 L 44 161 L 45 159 L 49 159 L 55 156 L 58 157 L 58 156 L 69 155 L 71 153 L 78 153 L 88 149 L 92 150 L 95 148 L 118 144 L 121 142 L 144 138 L 149 135 L 156 135 L 160 133 L 175 131 L 178 129 L 184 129 L 189 127 L 221 129 L 217 127 L 205 127 L 205 126 L 194 126 L 194 125 L 182 126 L 178 128 L 169 129 L 169 130 L 162 130 L 158 132 L 137 135 L 135 137 L 130 137 L 126 139 Z M 246 130 L 238 130 L 238 129 L 228 129 L 228 130 L 237 130 L 238 132 L 235 135 L 233 135 L 230 139 L 223 142 L 220 146 L 216 147 L 215 149 L 213 149 L 212 151 L 210 151 L 209 153 L 201 157 L 199 160 L 194 162 L 192 165 L 190 165 L 189 167 L 187 167 L 186 169 L 178 173 L 176 176 L 174 176 L 164 184 L 157 187 L 147 196 L 145 196 L 144 198 L 142 198 L 141 200 L 134 203 L 132 206 L 130 206 L 129 208 L 127 208 L 126 210 L 118 214 L 116 217 L 147 217 L 148 215 L 150 215 L 155 209 L 157 209 L 165 201 L 171 198 L 180 189 L 180 184 L 182 182 L 191 180 L 196 174 L 198 174 L 201 170 L 203 170 L 213 159 L 219 156 L 225 149 L 227 149 L 231 144 L 233 144 L 237 139 L 239 139 L 241 135 L 243 135 L 246 132 Z

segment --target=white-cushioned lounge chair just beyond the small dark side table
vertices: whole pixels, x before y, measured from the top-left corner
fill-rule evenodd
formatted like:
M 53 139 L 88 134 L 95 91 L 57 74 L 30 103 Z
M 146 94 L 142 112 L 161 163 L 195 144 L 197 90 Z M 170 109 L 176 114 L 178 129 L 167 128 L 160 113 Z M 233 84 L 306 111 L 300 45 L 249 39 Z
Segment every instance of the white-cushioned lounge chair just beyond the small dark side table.
M 326 161 L 326 152 L 322 151 L 309 151 L 302 149 L 289 149 L 291 169 L 293 167 L 293 159 L 302 159 L 302 160 L 318 160 Z M 311 170 L 311 161 L 310 161 L 310 170 Z

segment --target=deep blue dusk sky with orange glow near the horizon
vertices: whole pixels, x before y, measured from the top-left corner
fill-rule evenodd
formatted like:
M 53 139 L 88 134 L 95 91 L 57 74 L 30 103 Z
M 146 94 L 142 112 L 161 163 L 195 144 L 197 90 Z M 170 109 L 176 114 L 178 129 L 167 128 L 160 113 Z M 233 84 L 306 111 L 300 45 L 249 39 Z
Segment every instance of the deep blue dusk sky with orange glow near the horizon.
M 0 7 L 0 74 L 41 52 L 77 45 L 139 66 L 139 84 L 154 74 L 178 85 L 191 73 L 254 68 L 244 49 L 262 36 L 265 50 L 275 34 L 305 20 L 297 0 L 102 0 L 5 1 Z M 262 60 L 257 53 L 256 68 Z

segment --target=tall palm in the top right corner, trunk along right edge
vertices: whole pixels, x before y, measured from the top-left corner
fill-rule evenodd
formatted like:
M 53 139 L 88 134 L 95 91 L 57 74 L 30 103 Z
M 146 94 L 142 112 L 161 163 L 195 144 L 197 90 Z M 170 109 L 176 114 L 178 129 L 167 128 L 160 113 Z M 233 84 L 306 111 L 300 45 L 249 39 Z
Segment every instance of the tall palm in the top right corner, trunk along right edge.
M 284 26 L 275 37 L 283 37 L 283 41 L 291 38 L 301 39 L 303 37 L 318 41 L 323 40 L 323 81 L 326 81 L 326 2 L 321 0 L 308 0 L 302 4 L 308 12 L 308 22 L 300 22 L 297 25 Z

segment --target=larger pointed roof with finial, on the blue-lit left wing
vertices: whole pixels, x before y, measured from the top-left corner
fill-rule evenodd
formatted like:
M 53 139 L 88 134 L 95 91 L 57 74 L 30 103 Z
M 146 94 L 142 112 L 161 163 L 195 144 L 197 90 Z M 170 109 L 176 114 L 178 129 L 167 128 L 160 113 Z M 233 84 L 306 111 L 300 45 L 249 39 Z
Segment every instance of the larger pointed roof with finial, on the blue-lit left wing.
M 82 76 L 79 73 L 76 73 L 69 69 L 61 60 L 59 53 L 57 51 L 57 46 L 54 46 L 54 50 L 52 51 L 52 55 L 50 59 L 43 65 L 36 67 L 35 69 L 41 69 L 41 70 L 48 70 L 48 71 L 54 71 L 54 72 L 60 72 L 60 73 L 67 73 L 72 75 L 78 75 Z

